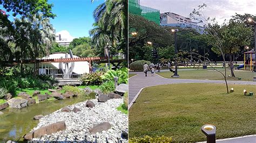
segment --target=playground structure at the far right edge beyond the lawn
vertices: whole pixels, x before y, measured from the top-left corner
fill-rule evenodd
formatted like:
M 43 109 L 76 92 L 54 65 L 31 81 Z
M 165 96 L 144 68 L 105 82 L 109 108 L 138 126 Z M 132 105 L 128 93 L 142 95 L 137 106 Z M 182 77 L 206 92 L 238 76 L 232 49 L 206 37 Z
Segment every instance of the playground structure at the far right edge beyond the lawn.
M 244 70 L 248 70 L 248 69 L 253 70 L 254 66 L 255 66 L 255 52 L 254 51 L 244 52 Z M 247 69 L 247 67 L 249 68 Z

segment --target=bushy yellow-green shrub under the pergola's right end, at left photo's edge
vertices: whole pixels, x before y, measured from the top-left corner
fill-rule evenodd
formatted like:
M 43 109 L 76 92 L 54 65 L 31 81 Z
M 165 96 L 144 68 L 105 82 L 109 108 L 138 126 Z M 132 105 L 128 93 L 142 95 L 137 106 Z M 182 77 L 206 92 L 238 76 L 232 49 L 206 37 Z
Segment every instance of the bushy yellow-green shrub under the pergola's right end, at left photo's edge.
M 104 75 L 102 75 L 102 79 L 104 81 L 113 81 L 114 77 L 118 77 L 118 84 L 125 83 L 128 84 L 128 68 L 120 68 L 117 70 L 108 70 Z

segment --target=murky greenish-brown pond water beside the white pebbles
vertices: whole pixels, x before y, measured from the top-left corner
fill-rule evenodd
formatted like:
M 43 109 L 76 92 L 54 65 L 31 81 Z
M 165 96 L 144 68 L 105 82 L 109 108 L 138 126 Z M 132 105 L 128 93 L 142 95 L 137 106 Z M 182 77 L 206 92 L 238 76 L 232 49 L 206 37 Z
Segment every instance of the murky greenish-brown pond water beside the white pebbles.
M 62 100 L 44 101 L 33 104 L 23 109 L 5 109 L 1 110 L 4 115 L 0 116 L 0 142 L 1 141 L 22 141 L 23 135 L 30 132 L 39 121 L 33 120 L 36 115 L 49 115 L 50 113 L 72 105 L 95 98 L 95 95 L 78 96 Z

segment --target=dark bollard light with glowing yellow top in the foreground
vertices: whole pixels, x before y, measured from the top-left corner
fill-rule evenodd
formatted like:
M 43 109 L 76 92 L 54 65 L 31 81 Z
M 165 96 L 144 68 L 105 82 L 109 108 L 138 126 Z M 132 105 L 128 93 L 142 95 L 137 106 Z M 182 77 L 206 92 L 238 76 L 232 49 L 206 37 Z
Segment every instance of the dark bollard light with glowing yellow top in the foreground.
M 206 124 L 201 127 L 201 131 L 206 135 L 207 143 L 215 143 L 216 127 L 211 124 Z

